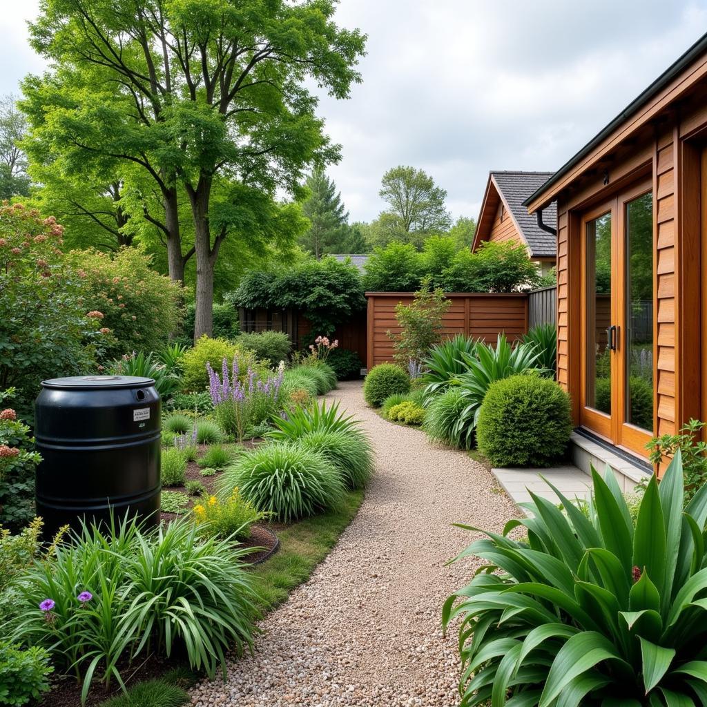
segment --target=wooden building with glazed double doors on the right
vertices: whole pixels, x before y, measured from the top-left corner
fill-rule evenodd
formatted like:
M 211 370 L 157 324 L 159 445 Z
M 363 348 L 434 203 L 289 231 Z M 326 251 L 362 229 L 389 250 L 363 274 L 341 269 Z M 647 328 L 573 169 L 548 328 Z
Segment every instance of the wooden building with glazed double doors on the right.
M 582 436 L 645 460 L 707 419 L 707 35 L 525 200 L 557 207 L 557 378 Z

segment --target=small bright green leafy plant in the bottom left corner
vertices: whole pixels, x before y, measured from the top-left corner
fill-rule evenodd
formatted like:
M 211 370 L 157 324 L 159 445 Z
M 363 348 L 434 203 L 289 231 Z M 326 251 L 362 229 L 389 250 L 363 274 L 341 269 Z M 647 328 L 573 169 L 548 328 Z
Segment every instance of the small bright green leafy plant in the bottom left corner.
M 49 651 L 33 645 L 22 650 L 10 641 L 0 641 L 0 704 L 25 705 L 49 691 Z

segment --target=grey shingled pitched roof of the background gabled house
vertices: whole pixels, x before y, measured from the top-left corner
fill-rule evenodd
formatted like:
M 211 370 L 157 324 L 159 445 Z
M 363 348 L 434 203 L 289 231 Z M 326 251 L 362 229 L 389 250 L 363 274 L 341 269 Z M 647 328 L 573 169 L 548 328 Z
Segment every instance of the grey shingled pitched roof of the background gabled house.
M 553 172 L 492 170 L 489 173 L 489 183 L 486 185 L 486 194 L 484 194 L 481 214 L 479 214 L 477 221 L 474 248 L 481 240 L 488 240 L 500 197 L 518 227 L 522 239 L 525 240 L 530 257 L 556 257 L 556 236 L 539 228 L 536 216 L 528 214 L 527 209 L 523 206 L 523 201 L 542 187 L 553 174 Z M 497 196 L 493 192 L 497 192 Z M 484 218 L 485 214 L 487 218 Z M 550 228 L 557 227 L 557 207 L 554 202 L 543 210 L 542 220 Z

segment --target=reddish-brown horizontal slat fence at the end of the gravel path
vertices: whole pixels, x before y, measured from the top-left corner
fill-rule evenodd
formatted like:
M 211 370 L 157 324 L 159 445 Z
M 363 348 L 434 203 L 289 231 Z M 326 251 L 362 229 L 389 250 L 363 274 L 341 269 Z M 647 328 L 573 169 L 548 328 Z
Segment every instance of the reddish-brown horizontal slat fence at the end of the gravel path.
M 447 293 L 452 300 L 443 317 L 443 332 L 448 337 L 465 334 L 496 341 L 501 332 L 514 341 L 528 329 L 527 293 Z M 414 300 L 412 292 L 367 292 L 368 298 L 368 368 L 393 360 L 393 342 L 387 332 L 398 334 L 400 327 L 395 318 L 398 303 L 409 305 Z

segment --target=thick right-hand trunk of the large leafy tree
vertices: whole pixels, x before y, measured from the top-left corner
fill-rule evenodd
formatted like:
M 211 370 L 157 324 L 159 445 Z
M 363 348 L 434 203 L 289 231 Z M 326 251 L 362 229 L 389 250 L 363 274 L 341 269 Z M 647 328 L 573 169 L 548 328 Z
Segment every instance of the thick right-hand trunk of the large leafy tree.
M 209 198 L 211 177 L 200 177 L 196 189 L 187 188 L 194 218 L 194 246 L 197 256 L 197 302 L 194 318 L 194 341 L 214 327 L 214 265 L 218 256 L 219 240 L 211 247 L 209 228 Z

